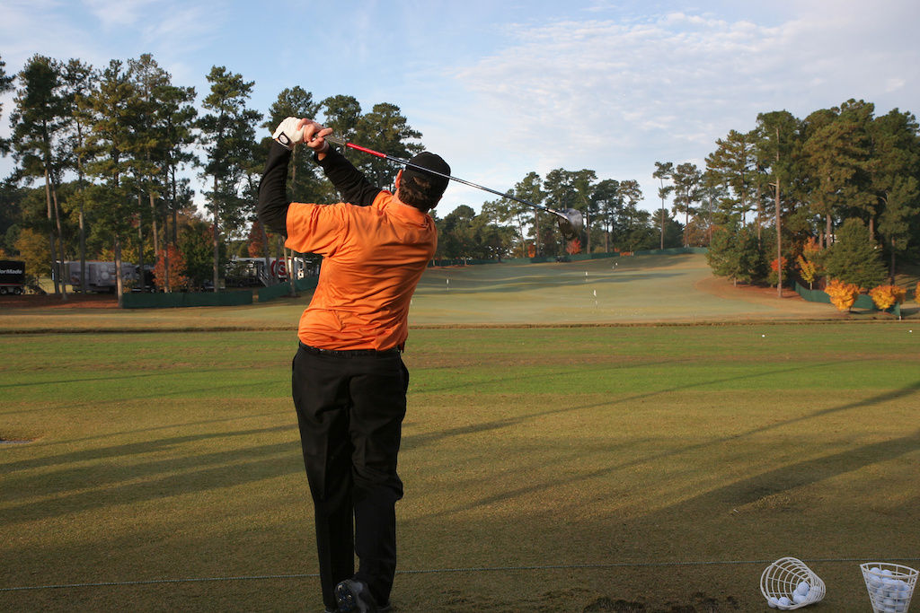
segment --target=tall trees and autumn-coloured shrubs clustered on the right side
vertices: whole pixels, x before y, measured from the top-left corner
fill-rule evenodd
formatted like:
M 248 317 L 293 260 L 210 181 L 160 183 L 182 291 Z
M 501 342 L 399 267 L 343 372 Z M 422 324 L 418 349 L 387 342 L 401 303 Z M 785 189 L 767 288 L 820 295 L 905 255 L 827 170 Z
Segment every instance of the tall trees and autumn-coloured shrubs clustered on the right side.
M 920 255 L 920 134 L 913 113 L 850 99 L 799 119 L 761 113 L 716 141 L 706 168 L 656 163 L 685 236 L 709 232 L 715 274 L 868 290 Z M 686 244 L 686 237 L 684 244 Z

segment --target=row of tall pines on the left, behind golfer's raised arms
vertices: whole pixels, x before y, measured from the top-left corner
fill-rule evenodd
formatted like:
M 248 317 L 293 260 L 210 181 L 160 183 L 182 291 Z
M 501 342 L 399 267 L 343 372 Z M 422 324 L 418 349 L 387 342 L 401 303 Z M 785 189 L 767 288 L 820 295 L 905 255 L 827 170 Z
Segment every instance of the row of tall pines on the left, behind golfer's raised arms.
M 0 154 L 16 162 L 0 189 L 0 249 L 29 259 L 35 275 L 50 274 L 62 297 L 72 279 L 86 291 L 90 259 L 115 262 L 120 297 L 125 262 L 141 275 L 155 264 L 158 289 L 217 291 L 231 255 L 282 255 L 279 237 L 259 228 L 254 214 L 268 135 L 282 119 L 320 119 L 401 157 L 422 149 L 420 132 L 394 104 L 364 112 L 353 96 L 316 101 L 292 86 L 262 112 L 250 102 L 255 83 L 242 74 L 214 66 L 207 82 L 198 99 L 150 54 L 102 69 L 35 55 L 17 74 L 0 59 L 0 94 L 15 92 L 13 138 L 0 141 Z M 396 165 L 366 155 L 353 161 L 392 187 Z M 206 186 L 203 213 L 194 204 L 193 169 Z M 291 199 L 339 198 L 307 153 L 297 152 L 290 172 Z M 78 268 L 63 266 L 77 259 Z

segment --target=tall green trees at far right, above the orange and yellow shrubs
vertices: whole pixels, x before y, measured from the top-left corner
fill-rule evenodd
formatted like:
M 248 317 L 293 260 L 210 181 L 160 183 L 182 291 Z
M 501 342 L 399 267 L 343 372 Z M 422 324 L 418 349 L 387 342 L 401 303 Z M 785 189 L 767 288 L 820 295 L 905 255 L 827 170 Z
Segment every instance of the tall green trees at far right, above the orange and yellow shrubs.
M 819 245 L 812 258 L 833 262 L 826 278 L 849 269 L 859 283 L 893 283 L 899 258 L 917 261 L 920 131 L 912 113 L 895 108 L 876 115 L 873 104 L 852 99 L 804 119 L 774 111 L 760 114 L 753 131 L 730 131 L 716 144 L 703 179 L 722 194 L 716 226 L 737 238 L 734 246 L 750 245 L 740 232 L 752 229 L 778 292 L 807 244 Z M 859 233 L 868 248 L 854 245 Z M 859 261 L 857 253 L 871 261 Z M 882 257 L 887 270 L 880 276 Z M 859 267 L 874 272 L 867 276 Z

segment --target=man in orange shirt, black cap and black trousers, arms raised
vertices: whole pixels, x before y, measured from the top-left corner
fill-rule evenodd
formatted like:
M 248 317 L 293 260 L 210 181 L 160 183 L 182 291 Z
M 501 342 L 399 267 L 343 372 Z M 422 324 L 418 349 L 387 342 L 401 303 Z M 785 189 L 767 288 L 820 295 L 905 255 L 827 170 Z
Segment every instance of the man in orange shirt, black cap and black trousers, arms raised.
M 301 316 L 293 402 L 316 514 L 323 603 L 331 611 L 389 610 L 397 565 L 397 452 L 408 371 L 400 352 L 409 302 L 434 255 L 428 215 L 450 167 L 420 153 L 399 171 L 396 193 L 374 187 L 309 119 L 284 119 L 259 186 L 259 221 L 301 253 L 323 255 L 313 300 Z M 342 202 L 290 202 L 286 181 L 299 143 Z M 353 522 L 352 522 L 353 518 Z M 359 560 L 354 571 L 354 556 Z

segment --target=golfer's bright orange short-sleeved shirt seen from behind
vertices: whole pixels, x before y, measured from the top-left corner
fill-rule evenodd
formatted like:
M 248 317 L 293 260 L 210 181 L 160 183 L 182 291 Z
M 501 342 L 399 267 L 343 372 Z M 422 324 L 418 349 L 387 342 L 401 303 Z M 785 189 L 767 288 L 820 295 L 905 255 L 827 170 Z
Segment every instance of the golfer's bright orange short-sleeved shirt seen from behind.
M 401 346 L 409 302 L 437 246 L 431 217 L 381 191 L 367 207 L 292 202 L 286 223 L 287 247 L 324 256 L 300 318 L 301 342 L 340 350 Z

